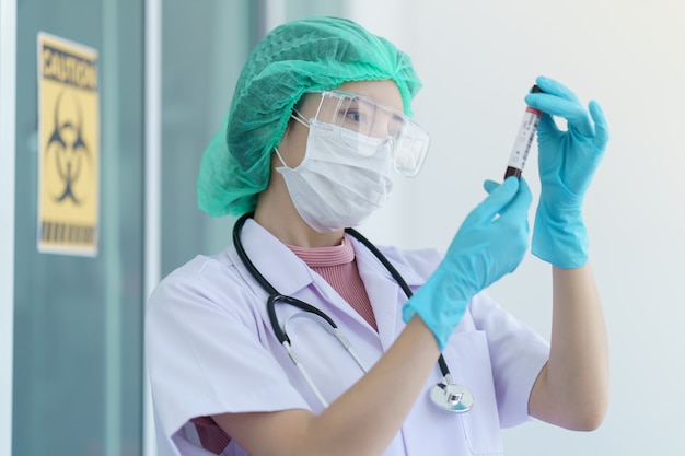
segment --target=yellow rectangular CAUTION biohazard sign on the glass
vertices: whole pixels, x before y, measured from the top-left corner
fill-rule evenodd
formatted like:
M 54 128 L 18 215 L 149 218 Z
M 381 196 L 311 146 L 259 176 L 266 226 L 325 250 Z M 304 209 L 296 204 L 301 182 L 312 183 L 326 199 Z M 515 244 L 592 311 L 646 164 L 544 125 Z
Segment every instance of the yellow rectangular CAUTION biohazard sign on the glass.
M 38 250 L 97 255 L 97 51 L 38 34 Z

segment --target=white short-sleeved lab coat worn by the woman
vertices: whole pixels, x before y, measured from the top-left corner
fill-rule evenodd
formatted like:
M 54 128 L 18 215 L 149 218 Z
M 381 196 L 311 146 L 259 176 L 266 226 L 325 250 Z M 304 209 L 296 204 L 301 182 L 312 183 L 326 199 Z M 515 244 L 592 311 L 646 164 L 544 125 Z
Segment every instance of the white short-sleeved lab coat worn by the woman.
M 287 246 L 248 220 L 242 242 L 257 269 L 282 294 L 329 315 L 371 367 L 405 324 L 406 296 L 363 245 L 352 242 L 378 332 Z M 381 248 L 413 290 L 440 261 L 434 250 Z M 266 312 L 268 294 L 252 278 L 234 247 L 198 256 L 172 272 L 152 294 L 146 323 L 147 362 L 160 456 L 210 455 L 194 443 L 195 417 L 222 412 L 309 409 L 322 406 L 280 346 Z M 281 325 L 298 308 L 278 304 Z M 307 318 L 287 332 L 316 386 L 330 402 L 363 372 L 325 329 Z M 529 419 L 531 388 L 548 358 L 548 344 L 491 299 L 476 295 L 443 355 L 454 381 L 474 395 L 467 413 L 438 409 L 429 399 L 442 379 L 436 366 L 385 455 L 498 455 L 500 428 Z M 392 388 L 393 385 L 388 385 Z M 402 394 L 402 391 L 398 391 Z M 224 455 L 245 455 L 235 442 Z

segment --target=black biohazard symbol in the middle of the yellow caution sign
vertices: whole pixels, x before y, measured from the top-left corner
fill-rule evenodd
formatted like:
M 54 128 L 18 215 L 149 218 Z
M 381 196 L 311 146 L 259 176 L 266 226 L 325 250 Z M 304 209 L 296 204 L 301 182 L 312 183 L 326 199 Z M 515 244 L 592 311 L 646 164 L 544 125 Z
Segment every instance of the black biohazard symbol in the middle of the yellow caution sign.
M 84 162 L 91 161 L 91 152 L 83 140 L 83 112 L 79 100 L 73 95 L 65 97 L 62 91 L 55 102 L 55 129 L 47 141 L 46 157 L 55 166 L 62 184 L 61 190 L 54 195 L 56 202 L 70 199 L 81 204 L 76 195 L 76 185 L 84 172 Z

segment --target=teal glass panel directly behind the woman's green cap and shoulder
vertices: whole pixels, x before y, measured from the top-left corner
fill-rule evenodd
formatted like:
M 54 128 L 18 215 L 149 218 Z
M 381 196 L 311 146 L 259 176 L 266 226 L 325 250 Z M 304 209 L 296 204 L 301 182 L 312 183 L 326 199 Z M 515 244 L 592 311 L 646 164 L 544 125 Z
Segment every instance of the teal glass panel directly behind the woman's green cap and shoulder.
M 197 209 L 200 156 L 219 129 L 252 48 L 249 0 L 162 5 L 162 274 L 230 238 L 232 218 Z

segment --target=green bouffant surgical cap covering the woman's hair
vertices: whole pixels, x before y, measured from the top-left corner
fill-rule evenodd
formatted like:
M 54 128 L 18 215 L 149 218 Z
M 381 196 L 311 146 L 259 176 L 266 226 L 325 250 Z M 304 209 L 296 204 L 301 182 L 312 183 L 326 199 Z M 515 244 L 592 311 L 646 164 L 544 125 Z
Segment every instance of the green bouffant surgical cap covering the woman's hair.
M 202 155 L 199 208 L 212 217 L 253 211 L 269 182 L 271 152 L 302 94 L 373 80 L 395 81 L 411 114 L 421 83 L 409 57 L 387 39 L 339 17 L 305 17 L 271 31 L 249 55 L 221 129 Z

